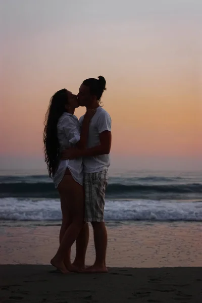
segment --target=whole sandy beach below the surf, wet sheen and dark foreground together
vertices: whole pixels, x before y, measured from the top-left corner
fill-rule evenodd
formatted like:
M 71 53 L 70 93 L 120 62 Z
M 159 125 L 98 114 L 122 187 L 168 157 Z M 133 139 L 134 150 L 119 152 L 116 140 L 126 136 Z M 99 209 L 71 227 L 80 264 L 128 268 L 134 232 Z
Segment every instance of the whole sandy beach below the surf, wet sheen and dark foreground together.
M 199 223 L 114 223 L 107 228 L 109 273 L 62 275 L 48 265 L 60 226 L 1 226 L 0 302 L 201 303 Z M 90 228 L 86 264 L 94 257 Z

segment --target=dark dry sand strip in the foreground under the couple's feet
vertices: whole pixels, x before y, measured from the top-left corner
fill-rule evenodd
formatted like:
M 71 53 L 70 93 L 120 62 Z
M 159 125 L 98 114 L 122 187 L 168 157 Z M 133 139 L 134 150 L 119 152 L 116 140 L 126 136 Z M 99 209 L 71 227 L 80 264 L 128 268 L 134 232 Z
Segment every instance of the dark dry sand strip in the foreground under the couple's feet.
M 47 265 L 1 265 L 1 303 L 200 303 L 202 268 L 110 268 L 108 274 L 54 273 Z

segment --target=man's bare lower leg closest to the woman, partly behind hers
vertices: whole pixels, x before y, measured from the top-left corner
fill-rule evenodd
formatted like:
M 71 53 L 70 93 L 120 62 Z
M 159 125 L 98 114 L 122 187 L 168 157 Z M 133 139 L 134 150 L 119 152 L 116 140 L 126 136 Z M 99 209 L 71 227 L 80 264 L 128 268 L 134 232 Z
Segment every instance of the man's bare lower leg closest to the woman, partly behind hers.
M 76 257 L 73 266 L 82 269 L 85 268 L 85 255 L 89 240 L 89 226 L 85 223 L 78 238 L 76 239 Z

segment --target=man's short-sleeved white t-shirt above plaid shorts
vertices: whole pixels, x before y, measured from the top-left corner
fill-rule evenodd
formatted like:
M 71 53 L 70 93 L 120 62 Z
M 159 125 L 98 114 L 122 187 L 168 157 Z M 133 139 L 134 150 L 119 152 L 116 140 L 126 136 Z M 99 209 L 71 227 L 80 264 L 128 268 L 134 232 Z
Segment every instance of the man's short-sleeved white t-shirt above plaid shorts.
M 84 115 L 79 119 L 82 126 Z M 100 144 L 99 134 L 105 130 L 111 131 L 112 120 L 108 112 L 98 107 L 89 124 L 87 148 Z M 84 173 L 97 173 L 110 166 L 110 155 L 99 155 L 83 158 Z

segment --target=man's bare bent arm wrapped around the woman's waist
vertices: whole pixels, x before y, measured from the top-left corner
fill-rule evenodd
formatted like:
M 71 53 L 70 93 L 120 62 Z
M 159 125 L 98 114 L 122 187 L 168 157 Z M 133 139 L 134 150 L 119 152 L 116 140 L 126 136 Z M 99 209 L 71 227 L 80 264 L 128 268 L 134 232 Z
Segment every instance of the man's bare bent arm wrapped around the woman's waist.
M 108 155 L 112 144 L 112 133 L 105 130 L 99 134 L 100 144 L 94 147 L 85 149 L 68 149 L 62 151 L 62 160 L 75 159 L 79 157 L 94 157 L 99 155 Z

